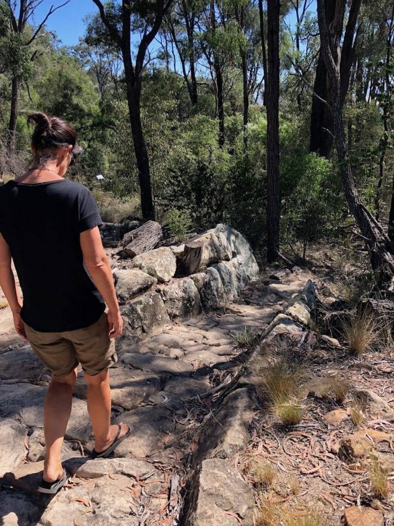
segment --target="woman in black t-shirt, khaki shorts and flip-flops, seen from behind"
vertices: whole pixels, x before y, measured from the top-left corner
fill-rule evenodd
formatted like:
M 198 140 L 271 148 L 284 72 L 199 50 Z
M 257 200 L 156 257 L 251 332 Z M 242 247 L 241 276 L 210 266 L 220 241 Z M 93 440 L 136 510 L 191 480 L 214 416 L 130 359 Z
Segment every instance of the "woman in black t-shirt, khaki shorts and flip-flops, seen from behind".
M 60 453 L 78 364 L 95 433 L 92 456 L 107 457 L 129 433 L 123 423 L 110 425 L 108 368 L 117 360 L 114 339 L 122 318 L 95 200 L 86 187 L 64 178 L 82 151 L 76 132 L 43 113 L 30 115 L 31 121 L 33 167 L 0 187 L 0 287 L 16 331 L 53 375 L 44 403 L 46 458 L 38 491 L 56 493 L 67 480 Z

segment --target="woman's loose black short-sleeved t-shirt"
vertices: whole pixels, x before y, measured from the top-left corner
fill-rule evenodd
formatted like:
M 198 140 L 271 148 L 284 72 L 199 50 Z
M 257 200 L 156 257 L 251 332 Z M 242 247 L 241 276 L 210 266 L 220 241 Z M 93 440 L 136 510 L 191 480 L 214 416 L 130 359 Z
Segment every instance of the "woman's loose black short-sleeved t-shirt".
M 94 197 L 58 179 L 0 187 L 0 232 L 23 292 L 23 321 L 40 332 L 95 323 L 105 304 L 84 267 L 79 234 L 102 225 Z

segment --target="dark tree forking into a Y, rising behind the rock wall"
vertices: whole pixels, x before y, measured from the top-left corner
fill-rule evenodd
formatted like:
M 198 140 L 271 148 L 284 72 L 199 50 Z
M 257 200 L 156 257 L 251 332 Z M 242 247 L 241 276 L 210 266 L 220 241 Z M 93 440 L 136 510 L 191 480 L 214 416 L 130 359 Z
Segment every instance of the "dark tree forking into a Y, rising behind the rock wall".
M 99 9 L 98 19 L 88 28 L 88 42 L 107 43 L 121 53 L 126 83 L 127 103 L 134 153 L 136 154 L 138 178 L 141 191 L 141 208 L 144 219 L 154 219 L 149 158 L 141 124 L 142 73 L 149 60 L 149 46 L 158 34 L 163 17 L 173 0 L 149 0 L 139 2 L 122 0 L 120 3 L 103 5 L 92 0 Z M 135 59 L 132 57 L 132 34 L 140 35 Z

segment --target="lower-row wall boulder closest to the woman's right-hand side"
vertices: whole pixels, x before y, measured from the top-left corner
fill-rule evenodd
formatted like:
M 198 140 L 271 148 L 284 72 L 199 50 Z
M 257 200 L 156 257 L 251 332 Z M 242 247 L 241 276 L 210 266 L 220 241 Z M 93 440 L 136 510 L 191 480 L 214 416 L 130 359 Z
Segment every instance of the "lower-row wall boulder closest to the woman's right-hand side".
M 147 292 L 121 307 L 125 321 L 123 337 L 145 339 L 159 334 L 170 322 L 163 300 L 157 292 Z

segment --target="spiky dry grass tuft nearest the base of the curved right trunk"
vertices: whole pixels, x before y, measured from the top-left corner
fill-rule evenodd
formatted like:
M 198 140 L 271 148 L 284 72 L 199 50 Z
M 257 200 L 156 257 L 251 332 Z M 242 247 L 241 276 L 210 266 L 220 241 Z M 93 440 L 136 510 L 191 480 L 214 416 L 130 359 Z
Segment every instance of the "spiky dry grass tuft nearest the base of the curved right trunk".
M 349 343 L 350 352 L 360 356 L 378 341 L 378 323 L 370 316 L 355 314 L 344 323 L 343 334 Z

